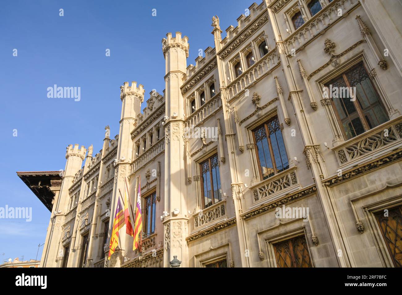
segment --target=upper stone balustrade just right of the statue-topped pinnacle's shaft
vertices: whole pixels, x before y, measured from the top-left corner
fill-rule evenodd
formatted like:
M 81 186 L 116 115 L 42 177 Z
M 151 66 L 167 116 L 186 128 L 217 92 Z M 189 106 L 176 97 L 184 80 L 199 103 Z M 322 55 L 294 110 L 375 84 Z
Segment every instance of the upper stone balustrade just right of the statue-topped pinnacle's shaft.
M 271 50 L 270 53 L 263 56 L 259 61 L 254 63 L 244 73 L 242 73 L 236 80 L 228 85 L 229 99 L 236 96 L 239 92 L 244 90 L 248 85 L 258 80 L 265 73 L 271 71 L 280 62 L 279 55 L 276 48 Z

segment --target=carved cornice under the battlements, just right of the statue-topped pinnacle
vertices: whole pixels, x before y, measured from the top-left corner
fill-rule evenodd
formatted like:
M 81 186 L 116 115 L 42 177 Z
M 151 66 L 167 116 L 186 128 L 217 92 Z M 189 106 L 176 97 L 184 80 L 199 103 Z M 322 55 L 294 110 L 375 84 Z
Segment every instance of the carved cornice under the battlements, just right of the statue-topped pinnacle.
M 261 26 L 263 26 L 263 24 L 265 24 L 265 22 L 267 22 L 268 20 L 267 11 L 264 10 L 260 14 L 261 15 L 256 17 L 254 22 L 251 22 L 243 29 L 244 31 L 242 30 L 243 32 L 240 31 L 237 37 L 232 39 L 221 50 L 219 50 L 217 55 L 219 55 L 221 59 L 225 59 L 226 57 L 228 57 L 230 53 L 232 53 L 236 48 L 242 45 L 244 41 L 250 38 L 255 33 L 255 31 L 257 31 Z

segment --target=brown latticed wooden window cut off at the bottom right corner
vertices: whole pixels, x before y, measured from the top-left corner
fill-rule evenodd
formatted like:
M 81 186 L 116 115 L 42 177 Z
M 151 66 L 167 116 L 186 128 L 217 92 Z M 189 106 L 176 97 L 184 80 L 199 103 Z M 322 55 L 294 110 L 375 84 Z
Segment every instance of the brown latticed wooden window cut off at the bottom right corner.
M 375 214 L 395 267 L 402 267 L 402 205 Z

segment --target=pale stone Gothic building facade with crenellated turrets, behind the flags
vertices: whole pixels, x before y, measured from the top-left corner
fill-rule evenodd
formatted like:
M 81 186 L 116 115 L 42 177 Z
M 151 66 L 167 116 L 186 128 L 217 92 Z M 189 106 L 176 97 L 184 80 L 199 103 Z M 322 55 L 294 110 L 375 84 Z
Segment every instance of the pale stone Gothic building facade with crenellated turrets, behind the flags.
M 143 85 L 125 82 L 119 134 L 96 155 L 68 146 L 41 266 L 401 267 L 401 12 L 253 3 L 224 38 L 214 16 L 189 66 L 189 38 L 168 33 L 164 93 L 141 112 Z M 143 252 L 123 228 L 107 260 L 139 177 Z

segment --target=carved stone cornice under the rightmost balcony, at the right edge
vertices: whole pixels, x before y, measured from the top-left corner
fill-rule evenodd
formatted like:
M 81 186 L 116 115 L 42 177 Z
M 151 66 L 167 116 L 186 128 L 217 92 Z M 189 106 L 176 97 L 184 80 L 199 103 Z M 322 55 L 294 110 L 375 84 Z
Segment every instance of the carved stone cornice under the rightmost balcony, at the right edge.
M 338 183 L 347 181 L 349 179 L 352 179 L 354 177 L 360 176 L 364 173 L 373 171 L 375 169 L 384 167 L 385 165 L 388 165 L 390 163 L 399 161 L 402 159 L 402 149 L 399 149 L 393 153 L 390 153 L 384 157 L 381 157 L 379 159 L 376 159 L 374 161 L 371 161 L 369 163 L 365 163 L 363 165 L 360 165 L 356 168 L 350 169 L 346 172 L 342 173 L 342 176 L 333 176 L 327 179 L 324 179 L 322 181 L 322 185 L 326 187 L 332 187 L 334 185 L 337 185 Z

